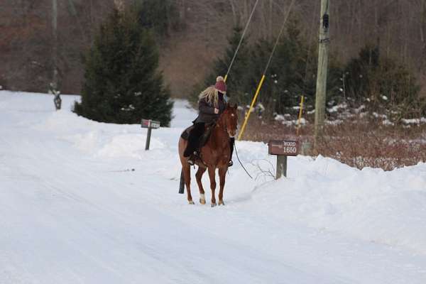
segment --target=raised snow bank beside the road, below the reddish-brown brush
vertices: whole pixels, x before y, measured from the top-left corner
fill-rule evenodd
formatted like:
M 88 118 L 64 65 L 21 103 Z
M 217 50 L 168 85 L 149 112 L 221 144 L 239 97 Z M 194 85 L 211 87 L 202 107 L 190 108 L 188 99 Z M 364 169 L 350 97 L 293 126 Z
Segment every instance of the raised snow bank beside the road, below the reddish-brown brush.
M 426 164 L 384 172 L 295 160 L 290 178 L 256 190 L 281 218 L 426 253 Z

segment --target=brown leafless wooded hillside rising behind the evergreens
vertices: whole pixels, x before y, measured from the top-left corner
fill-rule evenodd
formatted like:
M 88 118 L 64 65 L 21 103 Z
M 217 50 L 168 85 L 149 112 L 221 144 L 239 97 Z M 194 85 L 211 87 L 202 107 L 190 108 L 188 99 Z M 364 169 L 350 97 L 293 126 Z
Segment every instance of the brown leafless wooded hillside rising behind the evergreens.
M 246 22 L 255 0 L 128 0 L 146 7 L 143 23 L 161 45 L 161 66 L 174 96 L 185 96 L 190 82 L 207 74 L 222 56 L 235 26 Z M 296 1 L 291 13 L 300 36 L 315 50 L 317 0 Z M 290 5 L 288 0 L 260 1 L 249 30 L 251 41 L 274 38 Z M 52 9 L 50 0 L 4 0 L 0 4 L 1 84 L 9 89 L 44 91 L 50 76 Z M 60 81 L 65 93 L 80 92 L 80 55 L 93 43 L 113 0 L 58 0 Z M 425 0 L 333 1 L 332 53 L 342 62 L 365 45 L 378 45 L 395 56 L 419 82 L 426 72 Z M 179 71 L 179 72 L 178 72 Z M 178 74 L 180 73 L 180 74 Z

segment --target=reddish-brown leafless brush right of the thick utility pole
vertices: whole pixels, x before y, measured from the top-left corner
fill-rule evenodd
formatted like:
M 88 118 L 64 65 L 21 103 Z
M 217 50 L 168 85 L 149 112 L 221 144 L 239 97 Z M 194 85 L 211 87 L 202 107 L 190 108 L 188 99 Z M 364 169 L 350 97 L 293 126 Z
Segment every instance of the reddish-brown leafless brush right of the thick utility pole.
M 359 169 L 393 170 L 426 161 L 426 143 L 415 138 L 402 126 L 384 128 L 372 121 L 356 121 L 327 127 L 315 151 Z

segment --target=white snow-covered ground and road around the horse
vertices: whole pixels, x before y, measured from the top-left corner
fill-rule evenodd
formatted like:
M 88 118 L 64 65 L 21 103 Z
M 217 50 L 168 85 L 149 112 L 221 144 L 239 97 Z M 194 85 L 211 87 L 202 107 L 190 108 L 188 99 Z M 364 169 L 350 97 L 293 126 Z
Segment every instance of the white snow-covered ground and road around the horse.
M 0 92 L 0 283 L 426 283 L 426 164 L 298 156 L 275 181 L 258 175 L 273 171 L 267 146 L 238 142 L 258 178 L 236 162 L 226 206 L 189 205 L 185 102 L 144 151 L 146 129 L 89 121 L 62 99 L 54 111 L 50 95 Z

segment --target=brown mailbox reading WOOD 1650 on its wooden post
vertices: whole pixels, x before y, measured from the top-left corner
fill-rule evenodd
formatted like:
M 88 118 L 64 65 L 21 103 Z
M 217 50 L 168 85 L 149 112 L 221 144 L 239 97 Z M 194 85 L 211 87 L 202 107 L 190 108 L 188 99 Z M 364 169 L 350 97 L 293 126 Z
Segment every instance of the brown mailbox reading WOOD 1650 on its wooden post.
M 277 174 L 275 175 L 275 180 L 278 180 L 283 175 L 287 177 L 287 156 L 295 156 L 299 153 L 299 142 L 271 140 L 268 143 L 268 152 L 269 155 L 277 156 Z

